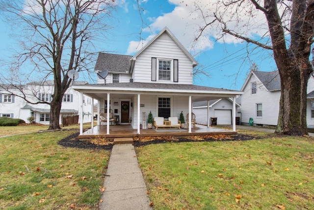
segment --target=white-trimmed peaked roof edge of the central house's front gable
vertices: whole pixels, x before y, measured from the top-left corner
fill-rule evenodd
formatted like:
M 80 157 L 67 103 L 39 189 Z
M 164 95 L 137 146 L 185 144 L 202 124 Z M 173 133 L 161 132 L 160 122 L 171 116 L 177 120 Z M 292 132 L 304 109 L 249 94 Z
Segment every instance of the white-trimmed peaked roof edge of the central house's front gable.
M 180 43 L 180 41 L 173 35 L 173 33 L 165 27 L 163 30 L 161 30 L 152 40 L 150 40 L 142 49 L 140 49 L 132 58 L 131 58 L 131 66 L 130 66 L 130 72 L 132 71 L 132 68 L 134 67 L 134 62 L 136 60 L 136 57 L 140 55 L 148 46 L 150 46 L 151 43 L 153 43 L 157 38 L 159 38 L 163 33 L 167 33 L 172 40 L 179 46 L 179 48 L 183 51 L 183 53 L 192 61 L 193 67 L 197 66 L 197 61 L 191 56 L 191 54 L 184 48 L 184 46 Z

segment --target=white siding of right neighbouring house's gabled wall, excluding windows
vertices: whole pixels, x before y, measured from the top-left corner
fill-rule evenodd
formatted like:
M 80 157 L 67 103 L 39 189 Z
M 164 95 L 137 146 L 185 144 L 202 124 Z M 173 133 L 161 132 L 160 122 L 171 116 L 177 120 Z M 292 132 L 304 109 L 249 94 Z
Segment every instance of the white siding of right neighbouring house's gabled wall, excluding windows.
M 251 82 L 257 82 L 255 94 L 251 94 Z M 277 125 L 281 91 L 267 91 L 254 75 L 243 91 L 241 122 L 249 123 L 249 119 L 253 118 L 254 124 Z M 262 117 L 256 116 L 257 103 L 262 103 Z

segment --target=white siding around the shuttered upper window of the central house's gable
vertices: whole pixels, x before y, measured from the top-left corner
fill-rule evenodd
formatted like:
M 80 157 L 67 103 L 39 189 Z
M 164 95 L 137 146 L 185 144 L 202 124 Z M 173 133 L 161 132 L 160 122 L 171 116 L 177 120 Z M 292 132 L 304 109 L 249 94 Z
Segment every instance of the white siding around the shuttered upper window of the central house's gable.
M 132 75 L 134 82 L 152 82 L 152 58 L 179 60 L 179 84 L 192 84 L 192 61 L 166 33 L 137 56 Z

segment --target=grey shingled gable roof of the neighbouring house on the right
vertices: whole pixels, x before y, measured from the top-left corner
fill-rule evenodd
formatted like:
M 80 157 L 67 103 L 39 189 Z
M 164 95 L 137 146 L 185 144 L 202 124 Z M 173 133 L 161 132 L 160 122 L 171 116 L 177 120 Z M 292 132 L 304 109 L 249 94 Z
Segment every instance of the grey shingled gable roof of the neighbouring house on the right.
M 250 75 L 243 84 L 241 91 L 243 91 L 247 83 L 250 81 L 252 75 L 255 75 L 268 91 L 281 90 L 281 82 L 278 71 L 251 71 Z

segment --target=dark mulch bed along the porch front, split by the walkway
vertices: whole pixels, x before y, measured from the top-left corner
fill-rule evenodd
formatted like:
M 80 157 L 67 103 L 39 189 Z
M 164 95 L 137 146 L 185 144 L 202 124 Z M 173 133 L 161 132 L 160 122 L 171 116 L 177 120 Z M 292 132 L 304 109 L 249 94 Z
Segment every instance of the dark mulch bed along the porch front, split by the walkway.
M 99 145 L 92 143 L 91 141 L 83 141 L 78 139 L 79 133 L 72 134 L 68 136 L 67 138 L 64 138 L 58 142 L 59 145 L 63 147 L 69 147 L 69 148 L 81 148 L 81 149 L 99 149 L 99 150 L 111 150 L 113 147 L 113 144 L 109 145 Z M 224 138 L 225 137 L 225 138 Z M 253 139 L 259 139 L 256 136 L 250 136 L 250 135 L 244 135 L 244 134 L 237 134 L 235 136 L 222 136 L 216 138 L 215 135 L 212 137 L 204 138 L 203 140 L 199 139 L 190 139 L 190 138 L 163 138 L 163 137 L 156 137 L 155 140 L 147 140 L 147 141 L 134 141 L 133 145 L 134 147 L 140 147 L 150 144 L 162 144 L 167 142 L 173 142 L 173 143 L 180 143 L 180 142 L 217 142 L 217 141 L 246 141 L 246 140 L 253 140 Z

